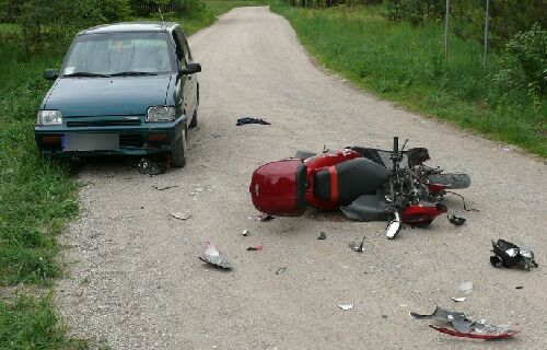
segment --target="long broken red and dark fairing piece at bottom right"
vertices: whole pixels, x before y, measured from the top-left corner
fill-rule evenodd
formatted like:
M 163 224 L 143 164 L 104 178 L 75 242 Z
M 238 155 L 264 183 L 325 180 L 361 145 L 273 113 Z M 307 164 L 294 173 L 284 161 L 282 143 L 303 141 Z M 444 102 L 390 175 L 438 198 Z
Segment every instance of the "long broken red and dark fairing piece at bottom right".
M 516 335 L 519 331 L 511 330 L 509 326 L 491 326 L 485 319 L 474 322 L 467 318 L 464 313 L 443 310 L 439 306 L 431 315 L 420 315 L 410 313 L 416 319 L 434 319 L 452 324 L 451 328 L 429 325 L 431 328 L 454 337 L 476 338 L 476 339 L 503 339 Z

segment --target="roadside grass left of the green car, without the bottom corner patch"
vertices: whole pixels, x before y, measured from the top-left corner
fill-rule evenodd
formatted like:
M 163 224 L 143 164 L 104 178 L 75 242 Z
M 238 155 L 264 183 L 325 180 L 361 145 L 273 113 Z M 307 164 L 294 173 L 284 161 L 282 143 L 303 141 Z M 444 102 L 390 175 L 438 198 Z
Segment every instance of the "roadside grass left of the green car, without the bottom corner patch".
M 78 213 L 77 185 L 67 170 L 42 159 L 33 126 L 49 88 L 43 78 L 60 57 L 25 60 L 0 51 L 0 285 L 46 284 L 59 275 L 56 235 Z

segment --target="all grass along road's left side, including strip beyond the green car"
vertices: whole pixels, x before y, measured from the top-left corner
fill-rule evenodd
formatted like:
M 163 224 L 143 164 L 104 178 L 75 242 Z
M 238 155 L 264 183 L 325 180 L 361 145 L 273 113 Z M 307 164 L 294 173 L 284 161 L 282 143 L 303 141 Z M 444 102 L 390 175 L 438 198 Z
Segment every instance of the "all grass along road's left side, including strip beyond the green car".
M 261 2 L 206 3 L 205 12 L 175 19 L 186 33 L 235 7 Z M 68 47 L 30 59 L 13 24 L 0 24 L 0 349 L 88 349 L 67 336 L 50 298 L 40 296 L 51 293 L 53 279 L 62 273 L 57 236 L 79 211 L 79 187 L 69 168 L 43 159 L 33 133 L 50 86 L 43 71 L 59 68 Z M 14 295 L 10 285 L 27 292 Z

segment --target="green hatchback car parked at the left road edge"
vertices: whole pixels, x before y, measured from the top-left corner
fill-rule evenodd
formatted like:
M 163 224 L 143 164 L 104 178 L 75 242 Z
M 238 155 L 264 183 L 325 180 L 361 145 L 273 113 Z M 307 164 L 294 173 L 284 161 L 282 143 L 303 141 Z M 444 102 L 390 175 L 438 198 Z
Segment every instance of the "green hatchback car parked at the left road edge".
M 34 129 L 45 155 L 167 153 L 186 164 L 197 126 L 199 83 L 177 23 L 102 25 L 77 35 L 42 103 Z

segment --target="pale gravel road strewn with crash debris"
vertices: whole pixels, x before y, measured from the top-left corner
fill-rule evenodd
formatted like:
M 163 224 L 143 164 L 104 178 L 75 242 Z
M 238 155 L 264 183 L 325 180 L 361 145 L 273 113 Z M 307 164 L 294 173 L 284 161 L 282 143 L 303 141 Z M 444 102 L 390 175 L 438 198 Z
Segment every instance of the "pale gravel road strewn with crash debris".
M 78 175 L 82 215 L 62 237 L 67 276 L 56 288 L 71 334 L 112 349 L 547 349 L 543 161 L 323 72 L 268 8 L 235 9 L 189 43 L 203 72 L 187 166 L 150 177 L 132 160 L 98 160 Z M 241 116 L 271 125 L 236 127 Z M 337 213 L 256 220 L 248 183 L 259 164 L 325 144 L 389 149 L 394 135 L 429 148 L 434 165 L 470 174 L 461 194 L 480 212 L 463 213 L 463 226 L 440 218 L 395 241 L 377 235 L 384 223 Z M 327 240 L 317 241 L 322 231 Z M 365 252 L 351 252 L 363 235 Z M 493 269 L 490 240 L 500 237 L 534 250 L 539 269 Z M 233 271 L 197 259 L 207 238 Z M 246 250 L 257 244 L 265 249 Z M 463 281 L 475 289 L 455 304 Z M 337 307 L 347 303 L 354 308 Z M 408 315 L 437 304 L 521 334 L 468 341 Z

